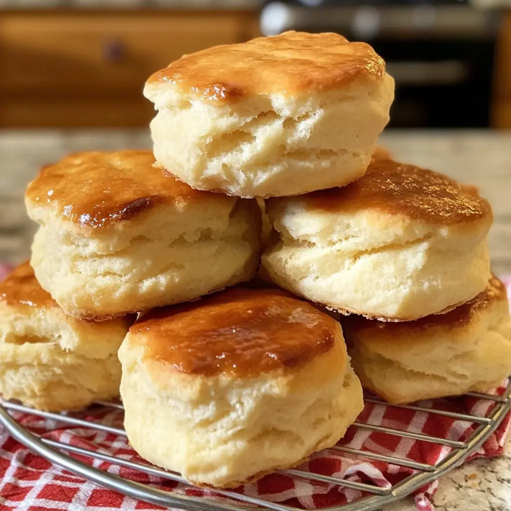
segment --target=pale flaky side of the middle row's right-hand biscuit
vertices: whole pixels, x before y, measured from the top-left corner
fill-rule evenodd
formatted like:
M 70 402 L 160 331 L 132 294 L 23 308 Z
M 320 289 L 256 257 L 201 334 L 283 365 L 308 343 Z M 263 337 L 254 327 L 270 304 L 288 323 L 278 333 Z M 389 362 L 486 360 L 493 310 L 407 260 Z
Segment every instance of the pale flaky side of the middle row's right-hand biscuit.
M 317 303 L 392 320 L 463 303 L 490 278 L 487 220 L 444 226 L 363 208 L 267 204 L 273 243 L 263 265 L 278 285 Z

